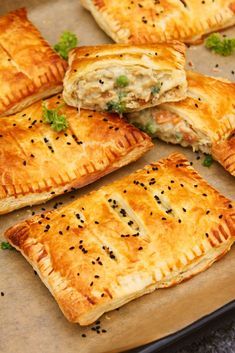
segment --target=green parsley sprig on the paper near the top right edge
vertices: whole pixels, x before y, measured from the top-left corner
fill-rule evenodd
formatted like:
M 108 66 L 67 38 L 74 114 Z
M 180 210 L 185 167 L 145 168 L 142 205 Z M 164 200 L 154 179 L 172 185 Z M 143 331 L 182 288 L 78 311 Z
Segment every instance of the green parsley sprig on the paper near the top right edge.
M 229 56 L 235 50 L 235 38 L 223 38 L 219 33 L 213 33 L 206 39 L 205 45 L 216 54 Z

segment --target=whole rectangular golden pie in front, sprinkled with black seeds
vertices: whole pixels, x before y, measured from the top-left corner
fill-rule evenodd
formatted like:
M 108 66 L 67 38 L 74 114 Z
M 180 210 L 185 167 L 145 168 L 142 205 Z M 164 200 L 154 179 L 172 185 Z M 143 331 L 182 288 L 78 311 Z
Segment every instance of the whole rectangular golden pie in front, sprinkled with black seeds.
M 180 154 L 46 215 L 5 236 L 81 325 L 204 271 L 235 240 L 234 204 Z

